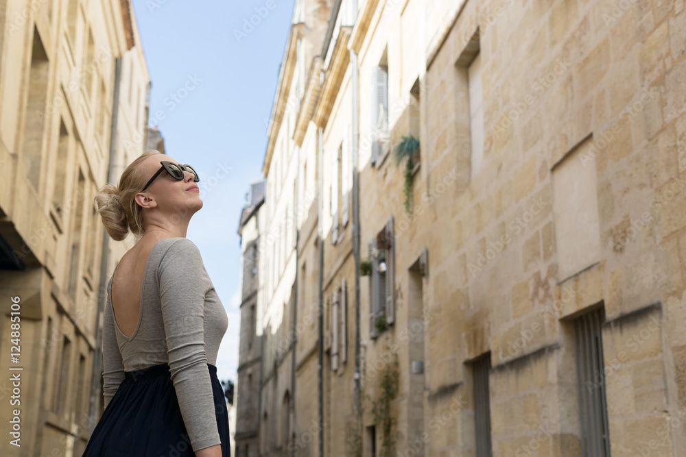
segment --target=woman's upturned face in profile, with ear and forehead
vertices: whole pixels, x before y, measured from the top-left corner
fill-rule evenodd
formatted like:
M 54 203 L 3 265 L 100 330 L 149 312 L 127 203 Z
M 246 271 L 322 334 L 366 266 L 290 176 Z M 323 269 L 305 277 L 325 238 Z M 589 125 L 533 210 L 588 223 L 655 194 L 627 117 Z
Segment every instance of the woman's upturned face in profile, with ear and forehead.
M 178 160 L 165 154 L 150 156 L 141 164 L 145 182 L 157 173 L 162 166 L 161 162 L 163 160 L 180 164 Z M 137 195 L 136 199 L 143 208 L 150 208 L 151 206 L 149 205 L 152 199 L 156 203 L 158 210 L 170 214 L 178 212 L 178 216 L 185 219 L 185 217 L 190 217 L 202 208 L 200 187 L 198 186 L 200 182 L 193 182 L 194 178 L 193 173 L 184 170 L 183 179 L 175 180 L 174 177 L 171 177 L 164 170 L 150 183 L 150 186 L 147 186 L 145 192 Z

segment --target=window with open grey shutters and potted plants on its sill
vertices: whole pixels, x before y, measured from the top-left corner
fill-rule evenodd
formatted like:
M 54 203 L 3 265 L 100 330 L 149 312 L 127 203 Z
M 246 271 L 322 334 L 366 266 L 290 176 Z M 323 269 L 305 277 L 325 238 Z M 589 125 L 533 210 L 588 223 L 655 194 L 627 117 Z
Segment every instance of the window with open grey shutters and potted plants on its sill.
M 395 236 L 391 214 L 386 226 L 368 244 L 370 337 L 376 338 L 395 321 Z

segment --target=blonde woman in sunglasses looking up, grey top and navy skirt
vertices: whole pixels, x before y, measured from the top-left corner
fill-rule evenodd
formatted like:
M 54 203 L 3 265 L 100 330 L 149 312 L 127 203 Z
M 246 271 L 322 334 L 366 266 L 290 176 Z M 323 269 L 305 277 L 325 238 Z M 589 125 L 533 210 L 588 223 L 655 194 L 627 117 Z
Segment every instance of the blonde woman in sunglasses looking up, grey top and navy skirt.
M 186 238 L 202 208 L 189 165 L 147 151 L 95 197 L 115 240 L 140 236 L 107 284 L 105 409 L 84 456 L 229 457 L 217 350 L 228 317 Z

